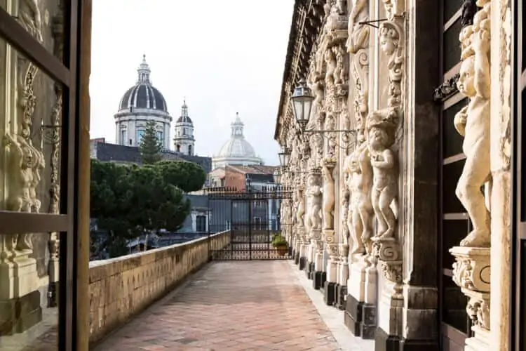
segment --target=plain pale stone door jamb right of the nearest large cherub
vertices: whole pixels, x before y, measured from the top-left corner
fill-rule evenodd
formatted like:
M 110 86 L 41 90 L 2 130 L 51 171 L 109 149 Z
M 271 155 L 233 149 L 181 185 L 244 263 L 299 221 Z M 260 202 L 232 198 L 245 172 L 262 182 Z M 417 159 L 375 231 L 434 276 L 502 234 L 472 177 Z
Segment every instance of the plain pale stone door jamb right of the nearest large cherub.
M 491 322 L 490 350 L 510 350 L 511 332 L 511 1 L 491 9 Z M 522 54 L 524 55 L 524 54 Z

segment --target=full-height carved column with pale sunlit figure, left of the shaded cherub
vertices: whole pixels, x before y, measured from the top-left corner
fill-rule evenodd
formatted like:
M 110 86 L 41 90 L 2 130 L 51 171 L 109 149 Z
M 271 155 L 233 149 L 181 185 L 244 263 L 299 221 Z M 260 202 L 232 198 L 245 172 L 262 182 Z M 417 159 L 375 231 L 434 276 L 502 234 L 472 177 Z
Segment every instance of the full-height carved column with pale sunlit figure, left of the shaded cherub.
M 373 17 L 376 17 L 373 15 Z M 370 1 L 353 1 L 349 11 L 349 39 L 346 49 L 350 54 L 351 111 L 354 131 L 351 154 L 344 160 L 349 208 L 346 225 L 349 228 L 349 278 L 344 322 L 355 336 L 372 338 L 376 325 L 377 270 L 370 264 L 372 254 L 372 168 L 365 142 L 365 119 L 370 101 L 370 41 L 373 30 L 364 24 L 370 20 Z

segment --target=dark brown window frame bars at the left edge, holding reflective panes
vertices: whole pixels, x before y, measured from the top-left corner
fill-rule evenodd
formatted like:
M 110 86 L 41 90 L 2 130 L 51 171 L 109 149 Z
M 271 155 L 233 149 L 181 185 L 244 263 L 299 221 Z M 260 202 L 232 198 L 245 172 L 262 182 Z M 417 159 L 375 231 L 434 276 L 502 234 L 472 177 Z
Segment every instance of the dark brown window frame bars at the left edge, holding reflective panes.
M 60 233 L 58 350 L 76 350 L 77 257 L 79 249 L 79 63 L 81 11 L 79 0 L 64 0 L 64 55 L 59 60 L 4 8 L 0 8 L 0 37 L 25 55 L 51 79 L 62 84 L 60 214 L 0 211 L 1 234 Z M 83 20 L 90 20 L 84 16 Z M 87 34 L 87 33 L 86 33 Z M 88 58 L 89 60 L 89 58 Z M 88 61 L 89 62 L 89 61 Z M 86 62 L 87 63 L 87 62 Z

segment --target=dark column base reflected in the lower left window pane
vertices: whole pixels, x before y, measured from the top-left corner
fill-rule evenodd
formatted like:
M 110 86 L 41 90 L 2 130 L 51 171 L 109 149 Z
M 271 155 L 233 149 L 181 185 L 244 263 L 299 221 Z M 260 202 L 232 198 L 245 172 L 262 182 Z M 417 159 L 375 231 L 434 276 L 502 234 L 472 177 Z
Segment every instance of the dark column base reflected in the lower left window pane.
M 41 321 L 40 291 L 0 301 L 0 336 L 23 333 Z

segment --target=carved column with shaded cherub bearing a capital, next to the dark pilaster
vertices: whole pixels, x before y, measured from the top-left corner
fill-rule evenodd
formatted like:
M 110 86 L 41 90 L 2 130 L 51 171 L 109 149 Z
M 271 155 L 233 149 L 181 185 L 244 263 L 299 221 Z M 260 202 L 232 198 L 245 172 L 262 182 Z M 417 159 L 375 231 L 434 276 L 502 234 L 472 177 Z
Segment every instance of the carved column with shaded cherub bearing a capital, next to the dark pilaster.
M 378 28 L 378 106 L 365 119 L 365 140 L 372 166 L 371 202 L 375 213 L 370 263 L 378 275 L 377 345 L 400 337 L 403 323 L 403 208 L 400 173 L 407 167 L 403 155 L 412 135 L 404 134 L 407 88 L 405 86 L 405 3 L 383 1 L 386 20 Z M 404 194 L 402 194 L 403 196 Z M 375 271 L 377 269 L 377 272 Z M 367 285 L 366 285 L 367 287 Z M 371 294 L 372 295 L 372 294 Z M 367 291 L 367 297 L 370 293 Z M 382 346 L 383 347 L 383 346 Z

